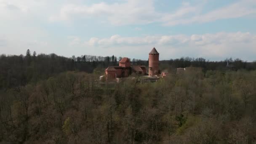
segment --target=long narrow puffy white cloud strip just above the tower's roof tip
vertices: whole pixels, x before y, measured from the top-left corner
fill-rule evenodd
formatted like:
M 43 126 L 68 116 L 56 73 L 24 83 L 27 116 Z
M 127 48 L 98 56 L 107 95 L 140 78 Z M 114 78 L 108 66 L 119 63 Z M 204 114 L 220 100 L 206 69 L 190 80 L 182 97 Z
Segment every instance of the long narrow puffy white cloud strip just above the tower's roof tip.
M 93 37 L 88 44 L 91 45 L 118 45 L 118 44 L 220 44 L 220 43 L 251 43 L 255 40 L 255 35 L 249 32 L 219 32 L 215 34 L 203 35 L 162 35 L 162 36 L 145 36 L 145 37 L 122 37 L 120 35 L 112 35 L 109 38 Z

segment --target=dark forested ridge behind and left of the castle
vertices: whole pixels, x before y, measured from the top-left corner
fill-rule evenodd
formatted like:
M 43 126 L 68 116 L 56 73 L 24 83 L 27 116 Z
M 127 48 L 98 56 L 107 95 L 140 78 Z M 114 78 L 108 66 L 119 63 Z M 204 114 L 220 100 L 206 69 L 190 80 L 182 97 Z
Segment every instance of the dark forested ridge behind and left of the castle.
M 27 50 L 25 56 L 0 55 L 0 90 L 36 83 L 50 76 L 67 71 L 92 73 L 96 68 L 104 73 L 104 68 L 118 65 L 115 56 L 87 56 L 66 58 L 52 53 L 33 54 Z M 102 70 L 103 69 L 103 70 Z

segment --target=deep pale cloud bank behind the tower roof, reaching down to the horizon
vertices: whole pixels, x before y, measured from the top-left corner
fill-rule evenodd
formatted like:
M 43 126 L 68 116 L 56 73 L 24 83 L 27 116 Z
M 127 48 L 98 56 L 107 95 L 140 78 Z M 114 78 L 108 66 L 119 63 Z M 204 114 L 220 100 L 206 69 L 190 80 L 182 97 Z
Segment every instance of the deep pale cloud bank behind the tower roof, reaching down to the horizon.
M 203 35 L 162 35 L 145 37 L 122 37 L 113 35 L 109 38 L 96 38 L 86 41 L 94 48 L 118 48 L 118 53 L 123 49 L 129 48 L 129 51 L 138 51 L 141 54 L 151 47 L 157 46 L 164 51 L 162 58 L 168 59 L 171 56 L 195 56 L 206 58 L 226 58 L 240 57 L 245 58 L 248 54 L 256 54 L 256 35 L 249 32 L 218 32 L 214 34 Z M 168 54 L 168 52 L 171 51 Z M 242 56 L 242 57 L 241 57 Z M 253 59 L 247 59 L 253 60 Z

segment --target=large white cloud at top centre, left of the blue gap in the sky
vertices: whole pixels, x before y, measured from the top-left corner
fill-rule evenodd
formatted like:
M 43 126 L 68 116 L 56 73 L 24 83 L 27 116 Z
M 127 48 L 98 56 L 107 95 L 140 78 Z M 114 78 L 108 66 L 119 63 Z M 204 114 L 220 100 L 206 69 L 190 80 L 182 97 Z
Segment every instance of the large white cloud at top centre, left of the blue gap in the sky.
M 153 0 L 125 0 L 125 3 L 95 3 L 93 5 L 64 4 L 50 21 L 75 18 L 105 18 L 111 24 L 145 24 L 156 18 Z

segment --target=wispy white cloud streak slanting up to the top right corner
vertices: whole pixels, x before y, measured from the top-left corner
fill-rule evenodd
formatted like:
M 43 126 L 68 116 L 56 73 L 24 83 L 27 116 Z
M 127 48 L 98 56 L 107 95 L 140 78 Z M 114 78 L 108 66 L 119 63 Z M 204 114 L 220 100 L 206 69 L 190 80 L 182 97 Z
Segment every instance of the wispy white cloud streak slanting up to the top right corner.
M 256 1 L 255 0 L 241 0 L 237 3 L 232 3 L 230 5 L 224 6 L 222 8 L 217 8 L 208 13 L 196 13 L 198 9 L 203 7 L 190 7 L 186 6 L 178 11 L 181 11 L 180 16 L 165 16 L 162 21 L 166 26 L 177 25 L 177 24 L 191 24 L 191 23 L 205 23 L 210 21 L 216 21 L 219 19 L 232 19 L 239 18 L 243 16 L 248 16 L 250 14 L 256 14 Z M 190 11 L 189 11 L 190 10 Z M 192 12 L 192 13 L 190 13 Z M 183 13 L 190 13 L 189 17 L 183 17 Z

